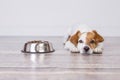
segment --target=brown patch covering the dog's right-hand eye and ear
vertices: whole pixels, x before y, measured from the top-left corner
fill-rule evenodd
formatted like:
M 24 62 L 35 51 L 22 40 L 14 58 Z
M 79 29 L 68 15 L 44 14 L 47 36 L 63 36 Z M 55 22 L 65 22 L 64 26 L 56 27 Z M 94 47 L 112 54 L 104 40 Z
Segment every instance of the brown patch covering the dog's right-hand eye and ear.
M 93 41 L 91 43 L 91 41 Z M 99 42 L 103 42 L 104 39 L 100 36 L 95 30 L 93 32 L 88 32 L 86 37 L 86 44 L 89 45 L 92 49 L 95 49 Z

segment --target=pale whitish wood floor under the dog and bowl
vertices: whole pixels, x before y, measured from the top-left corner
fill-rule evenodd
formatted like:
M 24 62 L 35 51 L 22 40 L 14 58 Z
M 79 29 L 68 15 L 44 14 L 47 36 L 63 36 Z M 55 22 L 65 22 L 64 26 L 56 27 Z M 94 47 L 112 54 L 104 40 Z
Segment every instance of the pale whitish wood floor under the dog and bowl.
M 105 38 L 103 54 L 63 49 L 62 37 L 0 37 L 0 80 L 120 80 L 120 38 Z M 48 40 L 55 52 L 24 54 L 29 40 Z

